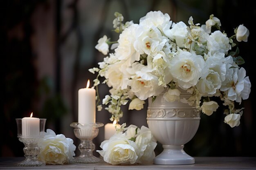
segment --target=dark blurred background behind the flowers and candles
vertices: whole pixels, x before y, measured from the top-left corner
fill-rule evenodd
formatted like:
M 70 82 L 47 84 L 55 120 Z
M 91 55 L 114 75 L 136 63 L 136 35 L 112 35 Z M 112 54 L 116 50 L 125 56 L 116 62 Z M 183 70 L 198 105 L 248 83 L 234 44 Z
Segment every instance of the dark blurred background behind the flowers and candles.
M 88 69 L 104 57 L 94 49 L 97 40 L 105 34 L 117 40 L 111 31 L 115 11 L 125 21 L 138 23 L 148 11 L 158 10 L 186 24 L 190 16 L 194 23 L 204 24 L 214 14 L 229 37 L 239 24 L 249 29 L 248 42 L 241 42 L 239 49 L 252 91 L 238 106 L 245 107 L 240 126 L 230 128 L 223 122 L 223 107 L 209 117 L 201 115 L 198 132 L 184 150 L 191 156 L 255 156 L 256 8 L 250 0 L 8 0 L 0 8 L 1 157 L 23 155 L 15 118 L 28 117 L 31 112 L 47 119 L 46 128 L 72 138 L 78 146 L 70 124 L 77 121 L 78 89 L 95 78 Z M 102 98 L 108 87 L 99 88 Z M 124 107 L 120 123 L 146 126 L 146 107 L 129 112 Z M 106 110 L 97 112 L 97 121 L 109 123 L 110 116 Z M 96 149 L 103 138 L 104 128 L 100 128 L 94 139 Z M 156 154 L 161 149 L 158 145 Z

